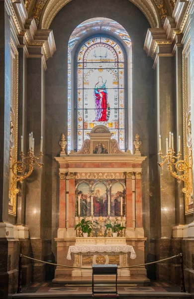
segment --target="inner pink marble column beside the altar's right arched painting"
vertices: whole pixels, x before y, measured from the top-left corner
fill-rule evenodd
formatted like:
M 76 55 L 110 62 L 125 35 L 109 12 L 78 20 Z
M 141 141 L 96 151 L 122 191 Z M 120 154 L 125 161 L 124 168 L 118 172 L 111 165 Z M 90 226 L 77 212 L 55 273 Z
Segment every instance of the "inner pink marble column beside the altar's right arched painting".
M 126 227 L 133 226 L 133 198 L 132 175 L 133 172 L 124 172 L 126 177 Z

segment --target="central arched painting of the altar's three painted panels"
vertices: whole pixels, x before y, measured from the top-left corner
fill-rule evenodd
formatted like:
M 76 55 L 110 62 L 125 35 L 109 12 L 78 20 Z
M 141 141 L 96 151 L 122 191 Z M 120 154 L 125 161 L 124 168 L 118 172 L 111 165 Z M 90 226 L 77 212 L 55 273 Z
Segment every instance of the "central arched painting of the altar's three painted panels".
M 94 216 L 107 216 L 108 199 L 106 186 L 103 183 L 97 183 L 94 188 Z

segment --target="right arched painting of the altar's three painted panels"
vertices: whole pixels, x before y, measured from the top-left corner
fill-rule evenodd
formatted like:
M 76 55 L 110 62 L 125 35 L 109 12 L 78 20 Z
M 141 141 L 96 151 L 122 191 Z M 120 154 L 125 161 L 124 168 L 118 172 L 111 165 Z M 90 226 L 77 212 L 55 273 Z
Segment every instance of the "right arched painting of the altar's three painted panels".
M 122 207 L 121 207 L 122 203 Z M 124 187 L 120 183 L 115 183 L 111 187 L 111 216 L 124 215 Z

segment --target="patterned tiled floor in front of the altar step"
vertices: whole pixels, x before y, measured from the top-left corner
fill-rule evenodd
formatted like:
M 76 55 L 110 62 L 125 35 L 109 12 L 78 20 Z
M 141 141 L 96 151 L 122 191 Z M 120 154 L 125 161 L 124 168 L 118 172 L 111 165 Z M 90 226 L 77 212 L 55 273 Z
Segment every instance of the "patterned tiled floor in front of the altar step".
M 96 287 L 96 291 L 114 291 L 113 287 L 100 286 Z M 22 293 L 47 293 L 54 294 L 63 292 L 68 295 L 74 294 L 92 294 L 92 287 L 89 286 L 68 286 L 60 285 L 59 287 L 53 286 L 52 283 L 35 283 L 22 288 Z M 125 286 L 118 286 L 118 294 L 129 294 L 131 292 L 180 292 L 180 287 L 171 283 L 151 282 L 149 287 L 135 286 L 130 284 Z

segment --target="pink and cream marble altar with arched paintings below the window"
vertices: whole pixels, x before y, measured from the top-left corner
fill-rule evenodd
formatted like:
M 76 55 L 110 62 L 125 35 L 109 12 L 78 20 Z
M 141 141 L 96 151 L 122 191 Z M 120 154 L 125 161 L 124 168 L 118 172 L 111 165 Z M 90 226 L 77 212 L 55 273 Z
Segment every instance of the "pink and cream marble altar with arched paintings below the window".
M 58 266 L 54 282 L 63 281 L 66 275 L 90 276 L 92 264 L 115 263 L 121 268 L 144 263 L 141 176 L 146 157 L 141 156 L 141 142 L 134 142 L 135 153 L 131 153 L 119 149 L 105 126 L 94 127 L 88 135 L 79 151 L 61 151 L 55 157 L 60 179 L 57 264 L 88 270 Z M 83 218 L 94 223 L 93 233 L 86 238 L 75 230 Z M 126 228 L 117 237 L 105 227 L 114 221 Z M 146 276 L 146 269 L 122 270 L 119 275 Z

